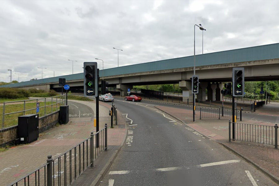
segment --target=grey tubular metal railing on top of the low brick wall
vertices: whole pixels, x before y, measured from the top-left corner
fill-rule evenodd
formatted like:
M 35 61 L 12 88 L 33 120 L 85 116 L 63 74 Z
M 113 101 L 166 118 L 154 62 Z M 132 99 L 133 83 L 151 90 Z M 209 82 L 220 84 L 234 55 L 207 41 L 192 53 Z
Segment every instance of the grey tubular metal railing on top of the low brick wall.
M 2 128 L 4 128 L 5 116 L 6 121 L 11 120 L 14 125 L 17 125 L 17 116 L 25 115 L 25 114 L 36 114 L 38 110 L 40 110 L 39 116 L 46 116 L 47 114 L 52 113 L 53 111 L 59 110 L 61 105 L 65 105 L 66 94 L 48 98 L 36 98 L 36 99 L 28 99 L 28 100 L 20 100 L 20 101 L 11 101 L 3 103 L 3 112 L 2 112 Z M 47 102 L 50 102 L 49 104 Z M 37 103 L 39 107 L 37 107 Z M 17 107 L 12 110 L 12 112 L 8 111 L 11 105 L 16 105 Z M 16 109 L 16 111 L 15 111 Z M 37 110 L 38 109 L 38 110 Z

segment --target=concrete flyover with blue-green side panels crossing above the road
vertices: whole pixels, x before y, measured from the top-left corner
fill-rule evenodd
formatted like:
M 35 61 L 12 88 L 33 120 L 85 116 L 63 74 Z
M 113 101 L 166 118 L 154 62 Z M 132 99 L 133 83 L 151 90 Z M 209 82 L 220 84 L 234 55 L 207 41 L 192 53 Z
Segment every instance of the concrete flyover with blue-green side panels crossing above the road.
M 245 68 L 245 81 L 279 80 L 279 43 L 196 55 L 196 75 L 199 75 L 201 82 L 197 98 L 205 101 L 207 89 L 209 100 L 220 100 L 222 82 L 232 80 L 233 67 Z M 127 88 L 133 85 L 179 83 L 183 89 L 184 101 L 193 99 L 190 81 L 192 75 L 193 56 L 104 69 L 104 80 L 109 82 L 110 87 L 118 88 L 121 95 L 126 95 Z M 59 78 L 65 78 L 72 89 L 83 89 L 83 73 L 4 86 L 55 89 L 59 88 Z

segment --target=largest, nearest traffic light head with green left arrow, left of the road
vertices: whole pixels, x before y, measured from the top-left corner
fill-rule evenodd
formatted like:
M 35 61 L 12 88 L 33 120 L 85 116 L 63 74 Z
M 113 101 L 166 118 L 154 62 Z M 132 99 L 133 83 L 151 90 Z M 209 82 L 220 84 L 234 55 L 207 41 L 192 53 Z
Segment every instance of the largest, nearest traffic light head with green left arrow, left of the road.
M 97 62 L 84 62 L 84 96 L 98 96 Z

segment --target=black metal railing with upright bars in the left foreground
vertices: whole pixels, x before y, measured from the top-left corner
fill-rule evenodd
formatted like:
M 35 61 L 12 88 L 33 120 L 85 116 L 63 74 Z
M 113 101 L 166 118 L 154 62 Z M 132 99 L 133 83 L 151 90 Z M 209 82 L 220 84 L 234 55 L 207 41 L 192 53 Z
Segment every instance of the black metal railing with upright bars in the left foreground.
M 93 134 L 90 138 L 73 147 L 58 157 L 47 156 L 47 163 L 32 171 L 9 186 L 67 186 L 82 174 L 86 168 L 94 167 L 94 160 L 108 150 L 107 124 L 104 129 Z

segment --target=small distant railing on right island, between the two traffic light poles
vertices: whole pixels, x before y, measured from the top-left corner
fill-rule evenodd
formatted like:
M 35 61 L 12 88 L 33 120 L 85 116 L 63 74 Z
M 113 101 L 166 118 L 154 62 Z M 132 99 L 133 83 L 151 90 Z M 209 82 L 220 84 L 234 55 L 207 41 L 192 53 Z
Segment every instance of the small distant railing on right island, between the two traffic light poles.
M 237 118 L 237 108 L 235 109 L 235 116 Z M 231 118 L 232 109 L 224 108 L 209 108 L 209 107 L 200 107 L 200 120 L 201 118 Z

